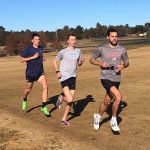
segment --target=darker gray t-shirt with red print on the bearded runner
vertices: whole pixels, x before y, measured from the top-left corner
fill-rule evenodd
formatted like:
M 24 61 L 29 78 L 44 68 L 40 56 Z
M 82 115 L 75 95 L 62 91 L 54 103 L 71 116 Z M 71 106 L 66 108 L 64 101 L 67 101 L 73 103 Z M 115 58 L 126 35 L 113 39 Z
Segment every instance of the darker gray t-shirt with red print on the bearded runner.
M 124 47 L 117 45 L 115 48 L 109 46 L 109 44 L 100 46 L 92 54 L 92 58 L 101 58 L 101 61 L 109 64 L 109 66 L 114 66 L 121 64 L 121 61 L 128 62 L 128 54 Z M 116 73 L 114 70 L 104 70 L 101 69 L 100 79 L 107 79 L 114 82 L 121 81 L 121 73 Z

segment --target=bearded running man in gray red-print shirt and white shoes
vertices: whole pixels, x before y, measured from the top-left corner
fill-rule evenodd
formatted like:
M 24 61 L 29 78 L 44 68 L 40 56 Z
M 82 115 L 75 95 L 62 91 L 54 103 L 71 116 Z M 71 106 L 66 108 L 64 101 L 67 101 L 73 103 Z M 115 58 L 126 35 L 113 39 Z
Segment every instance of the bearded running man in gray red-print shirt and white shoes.
M 112 105 L 112 118 L 110 125 L 113 131 L 119 131 L 117 124 L 117 111 L 122 100 L 122 95 L 119 91 L 121 80 L 121 71 L 129 66 L 128 54 L 124 47 L 118 45 L 118 31 L 109 29 L 107 31 L 108 44 L 100 46 L 92 54 L 90 63 L 100 66 L 101 68 L 101 83 L 106 89 L 106 96 L 100 105 L 99 113 L 94 114 L 94 128 L 99 129 L 100 120 L 103 113 L 107 110 L 111 100 L 114 100 Z M 101 58 L 97 60 L 97 58 Z

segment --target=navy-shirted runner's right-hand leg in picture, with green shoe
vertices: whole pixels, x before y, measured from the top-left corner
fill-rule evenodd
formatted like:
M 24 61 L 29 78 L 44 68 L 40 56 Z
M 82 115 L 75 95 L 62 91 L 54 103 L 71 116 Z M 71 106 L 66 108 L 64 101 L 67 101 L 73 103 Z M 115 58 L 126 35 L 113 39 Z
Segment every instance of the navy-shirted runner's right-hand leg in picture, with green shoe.
M 42 84 L 43 86 L 43 92 L 42 92 L 42 112 L 45 114 L 45 115 L 50 115 L 49 114 L 49 111 L 47 110 L 47 107 L 46 107 L 46 101 L 47 101 L 47 97 L 48 97 L 48 85 L 47 85 L 47 80 L 46 80 L 46 77 L 45 75 L 42 75 L 39 79 L 38 79 L 38 82 L 40 84 Z

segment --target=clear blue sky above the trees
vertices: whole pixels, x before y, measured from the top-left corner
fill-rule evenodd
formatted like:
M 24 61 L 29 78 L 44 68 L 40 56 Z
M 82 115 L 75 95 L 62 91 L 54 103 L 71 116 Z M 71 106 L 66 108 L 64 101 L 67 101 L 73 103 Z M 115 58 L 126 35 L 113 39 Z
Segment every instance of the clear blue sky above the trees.
M 10 31 L 54 31 L 150 22 L 149 0 L 0 0 L 0 26 Z

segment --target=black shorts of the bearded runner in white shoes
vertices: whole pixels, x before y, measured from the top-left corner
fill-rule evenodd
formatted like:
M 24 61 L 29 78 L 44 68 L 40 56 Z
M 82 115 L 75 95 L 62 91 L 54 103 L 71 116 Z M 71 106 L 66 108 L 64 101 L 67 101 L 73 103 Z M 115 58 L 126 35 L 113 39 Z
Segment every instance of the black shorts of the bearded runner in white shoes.
M 118 89 L 120 85 L 120 82 L 113 82 L 105 79 L 101 79 L 101 83 L 103 87 L 106 89 L 107 93 L 110 93 L 110 89 L 112 86 L 115 86 Z

